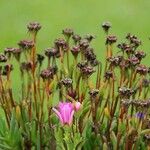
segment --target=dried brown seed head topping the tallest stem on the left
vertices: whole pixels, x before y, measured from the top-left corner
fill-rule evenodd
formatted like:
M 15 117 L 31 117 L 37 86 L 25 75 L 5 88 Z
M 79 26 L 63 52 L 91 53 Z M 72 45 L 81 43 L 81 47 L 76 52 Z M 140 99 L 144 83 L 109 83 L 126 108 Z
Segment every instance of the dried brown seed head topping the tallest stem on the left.
M 37 33 L 41 29 L 41 25 L 38 22 L 30 22 L 27 28 L 29 32 Z

